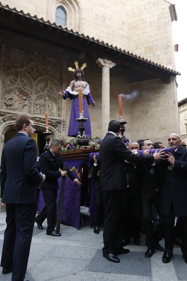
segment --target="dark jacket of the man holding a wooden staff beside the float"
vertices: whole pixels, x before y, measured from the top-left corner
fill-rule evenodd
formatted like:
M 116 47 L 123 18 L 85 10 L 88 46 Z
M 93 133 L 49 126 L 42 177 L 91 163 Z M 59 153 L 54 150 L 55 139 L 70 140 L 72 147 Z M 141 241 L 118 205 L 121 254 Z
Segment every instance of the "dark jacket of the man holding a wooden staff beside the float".
M 41 189 L 58 189 L 58 178 L 61 177 L 61 172 L 59 168 L 63 170 L 64 163 L 62 162 L 61 156 L 54 156 L 50 150 L 45 151 L 39 159 L 41 172 L 46 175 L 46 180 L 42 182 Z M 76 177 L 67 167 L 67 174 L 71 180 L 74 180 Z

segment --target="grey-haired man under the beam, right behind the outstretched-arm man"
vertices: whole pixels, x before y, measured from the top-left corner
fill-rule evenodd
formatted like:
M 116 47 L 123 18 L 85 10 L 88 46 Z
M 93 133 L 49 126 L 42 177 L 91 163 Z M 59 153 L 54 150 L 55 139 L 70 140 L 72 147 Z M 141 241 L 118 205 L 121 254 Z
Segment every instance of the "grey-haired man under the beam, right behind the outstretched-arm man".
M 129 144 L 129 150 L 139 150 L 137 142 Z M 140 165 L 126 162 L 127 166 L 127 189 L 123 195 L 123 240 L 122 245 L 125 246 L 134 239 L 135 245 L 140 245 L 141 232 L 141 185 L 142 185 L 142 169 Z

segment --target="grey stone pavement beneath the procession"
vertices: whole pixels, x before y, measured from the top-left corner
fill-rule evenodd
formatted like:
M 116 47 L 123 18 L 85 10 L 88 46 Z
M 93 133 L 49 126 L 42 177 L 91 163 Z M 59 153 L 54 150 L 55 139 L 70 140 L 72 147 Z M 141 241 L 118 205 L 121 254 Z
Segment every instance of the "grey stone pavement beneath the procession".
M 87 208 L 81 207 L 81 215 L 86 221 Z M 6 213 L 0 212 L 0 253 L 4 230 L 6 228 Z M 150 259 L 144 257 L 146 251 L 145 237 L 141 236 L 141 245 L 133 243 L 125 248 L 130 253 L 119 255 L 119 264 L 111 263 L 103 258 L 103 231 L 94 234 L 93 228 L 82 226 L 79 230 L 72 226 L 61 224 L 61 237 L 46 235 L 35 224 L 29 262 L 25 280 L 54 281 L 187 281 L 187 264 L 180 251 L 174 248 L 172 261 L 162 263 L 162 252 L 156 251 Z M 161 241 L 164 246 L 164 242 Z M 1 256 L 0 256 L 1 257 Z M 0 270 L 0 280 L 11 280 L 11 274 L 3 275 Z

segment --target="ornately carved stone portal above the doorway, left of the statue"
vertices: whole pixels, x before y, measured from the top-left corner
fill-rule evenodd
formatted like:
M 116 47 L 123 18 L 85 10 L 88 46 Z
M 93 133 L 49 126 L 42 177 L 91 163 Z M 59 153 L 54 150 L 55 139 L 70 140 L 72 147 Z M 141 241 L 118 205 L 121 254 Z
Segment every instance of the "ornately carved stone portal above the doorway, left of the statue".
M 0 44 L 0 136 L 14 128 L 20 112 L 35 115 L 37 131 L 45 131 L 44 114 L 48 111 L 51 131 L 55 137 L 65 137 L 66 121 L 60 119 L 65 103 L 58 93 L 62 84 L 67 86 L 66 62 L 60 66 L 55 59 L 37 52 L 5 52 L 7 49 Z

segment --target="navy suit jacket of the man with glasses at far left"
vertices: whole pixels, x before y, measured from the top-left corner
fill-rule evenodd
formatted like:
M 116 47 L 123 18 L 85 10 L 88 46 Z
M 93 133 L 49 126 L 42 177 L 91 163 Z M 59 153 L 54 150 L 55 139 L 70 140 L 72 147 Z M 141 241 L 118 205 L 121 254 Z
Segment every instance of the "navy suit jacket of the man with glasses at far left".
M 37 203 L 37 184 L 42 181 L 42 175 L 36 169 L 35 140 L 17 133 L 3 147 L 0 169 L 2 202 Z

